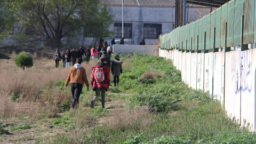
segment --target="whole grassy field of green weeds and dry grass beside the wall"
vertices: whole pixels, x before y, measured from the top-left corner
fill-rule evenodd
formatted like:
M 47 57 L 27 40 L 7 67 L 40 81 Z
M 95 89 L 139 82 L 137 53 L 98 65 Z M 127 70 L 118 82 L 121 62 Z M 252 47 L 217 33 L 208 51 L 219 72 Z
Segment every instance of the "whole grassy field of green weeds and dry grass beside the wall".
M 0 143 L 256 143 L 250 124 L 237 125 L 209 93 L 189 89 L 170 60 L 121 55 L 106 108 L 99 98 L 91 109 L 94 91 L 84 87 L 79 108 L 69 110 L 68 69 L 37 58 L 23 71 L 10 57 L 0 60 Z M 89 79 L 95 64 L 83 63 Z

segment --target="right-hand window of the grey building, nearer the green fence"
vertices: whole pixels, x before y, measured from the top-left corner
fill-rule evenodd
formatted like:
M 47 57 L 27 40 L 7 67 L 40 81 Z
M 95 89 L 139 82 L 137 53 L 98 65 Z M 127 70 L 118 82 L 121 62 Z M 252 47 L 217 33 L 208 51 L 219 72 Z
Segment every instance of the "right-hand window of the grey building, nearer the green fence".
M 145 38 L 158 39 L 162 33 L 162 24 L 157 23 L 144 23 L 144 36 Z

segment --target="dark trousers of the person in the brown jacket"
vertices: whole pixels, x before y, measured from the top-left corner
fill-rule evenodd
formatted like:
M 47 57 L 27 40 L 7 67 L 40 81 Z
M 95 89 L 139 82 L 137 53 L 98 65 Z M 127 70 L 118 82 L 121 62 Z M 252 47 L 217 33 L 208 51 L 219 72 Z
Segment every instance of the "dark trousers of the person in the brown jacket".
M 80 97 L 80 94 L 82 93 L 83 85 L 78 83 L 70 83 L 70 88 L 71 88 L 72 98 L 73 98 L 71 108 L 74 109 L 78 107 L 79 97 Z

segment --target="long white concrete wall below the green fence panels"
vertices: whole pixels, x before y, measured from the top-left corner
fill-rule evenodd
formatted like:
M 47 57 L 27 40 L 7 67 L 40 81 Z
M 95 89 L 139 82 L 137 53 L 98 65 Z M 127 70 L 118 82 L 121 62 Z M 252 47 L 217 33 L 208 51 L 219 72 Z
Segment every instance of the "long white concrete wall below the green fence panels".
M 249 44 L 241 51 L 238 46 L 229 52 L 190 53 L 159 49 L 160 57 L 170 58 L 181 70 L 182 80 L 194 89 L 209 91 L 222 104 L 227 115 L 243 125 L 256 127 L 256 49 Z

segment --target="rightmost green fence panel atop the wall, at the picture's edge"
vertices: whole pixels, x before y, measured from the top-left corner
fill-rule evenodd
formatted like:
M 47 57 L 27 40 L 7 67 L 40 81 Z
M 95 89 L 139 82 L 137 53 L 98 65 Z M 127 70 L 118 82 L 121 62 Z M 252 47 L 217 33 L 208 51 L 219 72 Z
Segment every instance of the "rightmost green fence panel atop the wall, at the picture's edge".
M 244 39 L 243 44 L 252 44 L 254 40 L 254 9 L 255 0 L 244 2 Z

